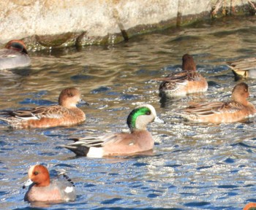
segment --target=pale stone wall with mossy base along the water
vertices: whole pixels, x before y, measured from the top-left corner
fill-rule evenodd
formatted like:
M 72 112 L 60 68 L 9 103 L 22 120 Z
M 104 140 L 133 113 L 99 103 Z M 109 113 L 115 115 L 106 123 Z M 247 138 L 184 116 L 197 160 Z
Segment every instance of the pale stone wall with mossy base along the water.
M 0 1 L 0 42 L 24 39 L 34 50 L 111 44 L 159 28 L 236 13 L 249 5 L 242 0 L 6 0 Z

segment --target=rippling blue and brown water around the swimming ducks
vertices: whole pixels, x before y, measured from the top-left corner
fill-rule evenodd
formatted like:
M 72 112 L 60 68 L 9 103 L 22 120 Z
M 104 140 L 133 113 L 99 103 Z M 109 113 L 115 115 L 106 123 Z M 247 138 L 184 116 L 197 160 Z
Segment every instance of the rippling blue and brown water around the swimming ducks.
M 256 18 L 225 18 L 136 37 L 114 46 L 31 52 L 28 69 L 0 72 L 0 110 L 56 104 L 62 89 L 80 88 L 90 106 L 86 123 L 71 128 L 10 130 L 0 123 L 1 209 L 25 209 L 29 166 L 64 168 L 77 201 L 49 209 L 242 209 L 256 202 L 255 119 L 246 123 L 189 123 L 173 110 L 189 101 L 228 100 L 236 85 L 226 61 L 256 55 Z M 203 95 L 167 101 L 151 79 L 181 68 L 189 52 L 209 83 Z M 246 79 L 256 96 L 255 79 Z M 249 98 L 256 105 L 256 98 Z M 127 129 L 138 102 L 152 104 L 165 125 L 151 124 L 154 155 L 77 158 L 69 136 Z M 53 174 L 53 171 L 51 171 Z

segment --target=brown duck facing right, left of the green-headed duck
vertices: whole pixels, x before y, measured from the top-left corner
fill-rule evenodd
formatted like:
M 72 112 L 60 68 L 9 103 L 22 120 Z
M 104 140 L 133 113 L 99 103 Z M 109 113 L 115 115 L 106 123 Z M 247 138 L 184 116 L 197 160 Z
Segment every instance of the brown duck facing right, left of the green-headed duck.
M 59 105 L 39 106 L 34 109 L 4 111 L 11 117 L 0 117 L 12 128 L 50 128 L 71 126 L 86 120 L 86 114 L 78 109 L 78 103 L 87 104 L 80 98 L 78 88 L 66 88 L 59 95 Z

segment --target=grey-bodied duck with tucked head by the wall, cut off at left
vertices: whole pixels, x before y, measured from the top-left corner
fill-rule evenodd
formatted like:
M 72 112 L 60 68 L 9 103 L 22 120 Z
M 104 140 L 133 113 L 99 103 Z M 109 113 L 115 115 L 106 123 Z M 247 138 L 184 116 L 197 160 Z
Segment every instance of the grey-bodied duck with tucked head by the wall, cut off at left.
M 31 60 L 23 41 L 11 40 L 0 50 L 0 70 L 29 66 Z

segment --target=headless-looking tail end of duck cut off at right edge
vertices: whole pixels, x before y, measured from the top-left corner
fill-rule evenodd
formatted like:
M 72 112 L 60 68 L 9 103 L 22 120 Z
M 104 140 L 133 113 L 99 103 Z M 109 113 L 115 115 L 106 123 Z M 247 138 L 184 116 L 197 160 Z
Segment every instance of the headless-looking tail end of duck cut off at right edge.
M 235 77 L 256 78 L 256 58 L 246 58 L 240 61 L 227 62 Z

